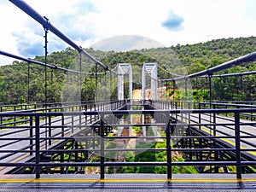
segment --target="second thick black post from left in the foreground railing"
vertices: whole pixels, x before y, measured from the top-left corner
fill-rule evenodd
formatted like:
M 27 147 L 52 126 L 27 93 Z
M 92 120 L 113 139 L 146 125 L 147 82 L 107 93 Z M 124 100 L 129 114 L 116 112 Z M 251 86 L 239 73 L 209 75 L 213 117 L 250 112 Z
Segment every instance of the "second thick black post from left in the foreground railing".
M 101 114 L 101 126 L 100 126 L 100 146 L 101 146 L 101 179 L 105 177 L 105 153 L 104 153 L 104 114 Z

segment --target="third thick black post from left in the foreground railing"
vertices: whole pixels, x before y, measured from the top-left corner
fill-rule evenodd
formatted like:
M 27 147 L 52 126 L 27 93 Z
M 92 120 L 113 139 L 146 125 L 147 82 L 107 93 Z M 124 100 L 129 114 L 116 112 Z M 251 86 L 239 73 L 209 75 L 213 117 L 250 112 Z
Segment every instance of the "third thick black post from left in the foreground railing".
M 166 118 L 169 113 L 166 113 Z M 172 179 L 172 147 L 171 147 L 171 121 L 168 119 L 166 126 L 166 153 L 167 153 L 167 179 Z

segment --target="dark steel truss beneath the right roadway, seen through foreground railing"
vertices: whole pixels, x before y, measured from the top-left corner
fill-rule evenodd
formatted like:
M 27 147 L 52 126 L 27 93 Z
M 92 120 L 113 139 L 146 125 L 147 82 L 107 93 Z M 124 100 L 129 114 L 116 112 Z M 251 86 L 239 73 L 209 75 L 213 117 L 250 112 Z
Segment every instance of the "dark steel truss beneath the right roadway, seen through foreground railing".
M 176 124 L 176 123 L 175 123 Z M 175 148 L 188 148 L 189 151 L 183 150 L 183 156 L 187 161 L 231 161 L 236 158 L 236 152 L 232 150 L 225 150 L 226 148 L 234 148 L 230 143 L 226 143 L 218 138 L 196 138 L 201 136 L 211 136 L 205 131 L 201 131 L 195 127 L 186 127 L 173 125 L 171 130 L 179 132 L 173 134 L 180 135 L 185 138 L 180 138 L 174 145 Z M 177 129 L 177 130 L 176 130 Z M 221 150 L 223 148 L 224 150 Z M 193 150 L 195 149 L 195 150 Z M 217 149 L 217 150 L 216 150 Z M 247 160 L 243 158 L 242 160 Z M 216 165 L 216 166 L 195 166 L 196 170 L 200 173 L 229 173 L 229 166 Z M 241 172 L 248 173 L 254 172 L 252 167 L 243 166 Z

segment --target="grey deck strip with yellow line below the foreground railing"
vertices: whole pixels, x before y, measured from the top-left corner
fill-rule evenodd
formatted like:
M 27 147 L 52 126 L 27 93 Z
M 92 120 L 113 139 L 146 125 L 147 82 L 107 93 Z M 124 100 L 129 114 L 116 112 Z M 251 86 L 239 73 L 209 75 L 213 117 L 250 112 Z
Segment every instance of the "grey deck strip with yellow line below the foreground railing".
M 61 176 L 61 177 L 60 177 Z M 160 174 L 99 175 L 2 175 L 1 191 L 255 191 L 256 174 L 243 179 L 236 175 L 191 174 L 173 175 L 168 180 Z

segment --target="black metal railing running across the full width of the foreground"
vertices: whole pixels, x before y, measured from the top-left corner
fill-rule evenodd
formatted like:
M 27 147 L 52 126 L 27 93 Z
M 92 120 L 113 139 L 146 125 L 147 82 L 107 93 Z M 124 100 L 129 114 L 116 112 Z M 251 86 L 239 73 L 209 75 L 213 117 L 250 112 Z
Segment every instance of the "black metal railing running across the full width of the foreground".
M 123 103 L 123 102 L 122 102 Z M 120 104 L 122 104 L 120 103 Z M 149 102 L 148 102 L 149 103 Z M 125 104 L 125 103 L 123 103 Z M 0 166 L 32 166 L 35 167 L 35 169 L 37 170 L 36 172 L 36 177 L 40 177 L 40 168 L 42 166 L 100 166 L 101 167 L 101 178 L 104 178 L 104 168 L 106 166 L 167 166 L 168 168 L 172 167 L 172 166 L 236 166 L 237 168 L 237 172 L 236 172 L 236 177 L 237 178 L 241 178 L 241 165 L 243 166 L 256 166 L 256 161 L 255 159 L 250 160 L 244 160 L 244 158 L 253 158 L 252 155 L 247 154 L 248 152 L 252 152 L 252 151 L 256 151 L 256 146 L 253 145 L 253 143 L 249 143 L 247 142 L 247 138 L 252 138 L 255 139 L 256 136 L 255 135 L 240 135 L 240 131 L 241 130 L 241 126 L 245 125 L 244 123 L 240 122 L 239 119 L 239 115 L 240 113 L 256 113 L 256 108 L 242 108 L 242 109 L 195 109 L 195 110 L 188 110 L 188 109 L 176 109 L 176 110 L 131 110 L 131 111 L 127 111 L 127 110 L 119 110 L 119 111 L 105 111 L 105 110 L 101 110 L 101 111 L 84 111 L 84 112 L 63 112 L 63 113 L 59 113 L 59 112 L 51 112 L 51 113 L 0 113 L 0 117 L 9 117 L 9 116 L 15 116 L 15 117 L 30 117 L 31 121 L 31 125 L 28 126 L 20 126 L 20 128 L 22 127 L 22 129 L 19 129 L 20 131 L 26 131 L 29 129 L 32 129 L 32 135 L 30 137 L 22 137 L 20 135 L 20 137 L 15 137 L 12 136 L 12 132 L 7 132 L 5 133 L 5 131 L 1 131 L 0 135 L 2 135 L 0 137 L 0 141 L 2 141 L 3 143 L 6 143 L 6 141 L 11 141 L 9 143 L 9 145 L 11 145 L 12 143 L 19 143 L 19 142 L 25 142 L 25 141 L 31 141 L 30 145 L 27 146 L 23 146 L 23 149 L 19 149 L 19 148 L 15 148 L 15 149 L 4 149 L 3 144 L 0 146 L 0 155 L 2 155 L 3 153 L 5 153 L 6 155 L 8 154 L 24 154 L 24 153 L 31 153 L 31 157 L 35 158 L 35 161 L 32 162 L 9 162 L 9 161 L 4 161 L 5 158 L 0 157 Z M 198 119 L 197 121 L 188 121 L 189 119 L 186 119 L 186 115 L 185 114 L 205 114 L 205 113 L 212 113 L 213 117 L 214 115 L 218 114 L 218 113 L 234 113 L 234 121 L 230 121 L 228 123 L 218 123 L 218 122 L 205 122 L 202 123 L 200 122 L 200 120 Z M 125 114 L 154 114 L 154 119 L 156 119 L 157 123 L 150 123 L 150 125 L 160 125 L 163 128 L 166 128 L 164 130 L 166 130 L 166 135 L 161 135 L 161 136 L 143 136 L 143 137 L 127 137 L 127 136 L 120 136 L 120 137 L 112 137 L 111 135 L 106 135 L 105 132 L 100 131 L 100 130 L 105 130 L 105 131 L 109 131 L 109 128 L 111 127 L 116 127 L 119 126 L 118 124 L 109 124 L 108 121 L 106 121 L 107 119 L 105 119 L 105 117 L 107 117 L 107 115 L 112 114 L 113 116 L 116 115 L 125 115 Z M 172 116 L 172 114 L 180 114 L 180 115 L 185 115 L 184 117 L 184 121 L 173 121 L 173 119 L 170 119 L 169 121 L 166 121 L 166 118 L 169 119 L 169 117 Z M 90 117 L 90 115 L 97 115 L 97 117 L 99 118 L 99 121 L 97 124 L 75 124 L 74 122 L 69 122 L 68 125 L 63 121 L 63 119 L 65 118 L 69 118 L 69 119 L 73 119 L 74 117 L 77 117 L 77 121 L 79 122 L 79 120 L 84 120 L 86 119 L 86 117 Z M 43 124 L 43 122 L 40 122 L 40 117 L 61 117 L 61 119 L 59 119 L 58 122 L 60 122 L 59 125 L 53 125 L 52 120 L 51 119 L 51 123 L 50 124 Z M 165 122 L 164 124 L 160 124 L 161 120 L 163 120 L 163 122 Z M 106 122 L 105 122 L 106 121 Z M 188 121 L 188 122 L 187 122 Z M 81 121 L 82 122 L 82 121 Z M 247 125 L 255 125 L 256 123 L 251 123 L 251 124 L 247 124 Z M 147 125 L 147 124 L 145 124 Z M 137 125 L 139 127 L 145 126 L 145 125 Z M 176 127 L 177 125 L 177 127 Z M 223 129 L 218 129 L 218 126 L 222 126 L 222 127 L 228 127 L 228 126 L 234 126 L 235 128 L 233 132 L 235 132 L 235 134 L 230 135 L 228 133 L 223 134 Z M 194 135 L 187 135 L 187 136 L 181 136 L 181 135 L 174 135 L 172 136 L 172 131 L 173 128 L 180 128 L 181 126 L 186 126 L 187 128 L 191 129 L 191 131 L 194 132 L 202 132 L 203 135 L 198 135 L 198 136 L 194 136 Z M 198 128 L 198 126 L 200 128 Z M 12 126 L 11 128 L 18 128 L 19 126 Z M 203 131 L 203 129 L 201 129 L 202 127 L 205 127 L 204 129 L 208 129 L 209 131 L 213 131 L 215 132 L 215 134 L 222 134 L 222 135 L 211 135 L 209 133 L 207 133 L 207 131 Z M 51 132 L 51 136 L 49 135 L 45 135 L 46 134 L 46 129 L 48 131 L 52 131 Z M 89 129 L 89 130 L 97 130 L 99 129 L 100 132 L 98 132 L 99 135 L 78 135 L 78 136 L 73 136 L 71 137 L 70 135 L 67 135 L 68 131 L 82 131 L 85 129 Z M 57 131 L 57 132 L 54 132 Z M 47 132 L 48 132 L 47 131 Z M 170 131 L 170 132 L 169 132 Z M 182 130 L 183 131 L 183 130 Z M 15 130 L 13 131 L 15 133 Z M 17 134 L 18 132 L 16 132 Z M 108 132 L 107 132 L 108 133 Z M 4 134 L 8 134 L 5 138 Z M 102 148 L 100 146 L 97 146 L 96 148 L 91 148 L 91 151 L 97 151 L 99 153 L 107 153 L 107 152 L 111 152 L 111 151 L 140 151 L 140 150 L 144 150 L 144 149 L 148 149 L 149 151 L 166 151 L 166 153 L 171 154 L 171 156 L 169 156 L 169 159 L 167 158 L 166 161 L 162 161 L 162 162 L 156 162 L 156 161 L 150 161 L 150 162 L 110 162 L 110 161 L 106 161 L 104 157 L 101 158 L 101 162 L 95 162 L 95 163 L 90 163 L 90 162 L 45 162 L 45 161 L 41 161 L 42 155 L 45 153 L 63 153 L 66 152 L 66 149 L 61 149 L 61 148 L 41 148 L 41 144 L 40 143 L 45 143 L 47 141 L 52 141 L 52 140 L 60 140 L 60 141 L 70 141 L 71 139 L 95 139 L 95 141 L 101 141 L 101 143 L 107 142 L 108 139 L 115 139 L 115 138 L 120 138 L 120 139 L 127 139 L 127 138 L 134 138 L 134 139 L 166 139 L 167 141 L 170 141 L 170 139 L 201 139 L 205 140 L 205 142 L 211 144 L 209 141 L 214 141 L 214 143 L 218 144 L 213 148 L 207 147 L 207 148 L 187 148 L 185 146 L 180 146 L 180 148 L 155 148 L 155 149 L 149 149 L 149 148 Z M 234 139 L 236 140 L 236 144 L 234 146 L 230 145 L 229 143 L 224 143 L 224 139 Z M 84 141 L 84 140 L 83 140 Z M 163 140 L 164 142 L 164 140 Z M 198 140 L 197 140 L 198 142 Z M 98 143 L 98 142 L 97 142 Z M 168 146 L 168 143 L 166 143 L 166 146 Z M 250 145 L 250 148 L 242 148 L 240 147 L 239 143 L 246 143 L 247 145 Z M 98 143 L 99 144 L 99 143 Z M 218 148 L 219 145 L 223 145 L 224 148 Z M 102 144 L 102 146 L 104 146 L 104 144 Z M 80 153 L 85 149 L 69 149 L 68 153 Z M 179 152 L 183 152 L 183 153 L 193 153 L 195 154 L 195 152 L 204 152 L 206 153 L 207 151 L 209 153 L 212 153 L 214 151 L 218 151 L 221 153 L 228 153 L 229 155 L 233 155 L 234 159 L 233 160 L 217 160 L 217 161 L 207 161 L 207 160 L 197 160 L 197 161 L 193 161 L 193 160 L 189 160 L 189 161 L 184 161 L 184 162 L 172 162 L 172 151 L 179 151 Z M 218 154 L 218 153 L 216 153 Z M 240 155 L 241 154 L 241 155 Z M 43 155 L 44 156 L 44 155 Z M 170 159 L 171 158 L 171 159 Z M 172 171 L 168 172 L 167 175 L 168 178 L 172 178 Z

